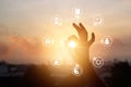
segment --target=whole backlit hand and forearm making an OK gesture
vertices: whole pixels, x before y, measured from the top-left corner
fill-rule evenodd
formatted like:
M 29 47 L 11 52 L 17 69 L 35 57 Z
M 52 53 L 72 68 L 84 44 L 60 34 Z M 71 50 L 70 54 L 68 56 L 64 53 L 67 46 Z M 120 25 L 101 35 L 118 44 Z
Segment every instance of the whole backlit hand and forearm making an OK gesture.
M 87 84 L 88 87 L 105 87 L 90 61 L 90 47 L 95 41 L 95 34 L 92 33 L 92 37 L 88 40 L 88 33 L 82 23 L 79 25 L 73 23 L 73 27 L 76 29 L 79 38 L 75 35 L 69 37 L 69 41 L 73 40 L 76 42 L 76 47 L 69 50 L 74 61 L 83 69 L 81 77 L 83 84 Z

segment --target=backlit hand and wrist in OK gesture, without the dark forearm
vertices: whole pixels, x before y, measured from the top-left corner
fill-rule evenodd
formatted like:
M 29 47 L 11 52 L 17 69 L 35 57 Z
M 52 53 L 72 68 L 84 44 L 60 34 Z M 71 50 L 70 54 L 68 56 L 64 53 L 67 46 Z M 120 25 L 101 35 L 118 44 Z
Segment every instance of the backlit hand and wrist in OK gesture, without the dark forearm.
M 90 47 L 95 41 L 95 34 L 92 33 L 92 37 L 88 39 L 88 33 L 82 23 L 79 25 L 73 23 L 73 27 L 76 29 L 79 38 L 75 35 L 69 37 L 69 40 L 76 41 L 76 48 L 71 51 L 71 55 L 78 64 L 86 69 L 87 64 L 91 64 Z

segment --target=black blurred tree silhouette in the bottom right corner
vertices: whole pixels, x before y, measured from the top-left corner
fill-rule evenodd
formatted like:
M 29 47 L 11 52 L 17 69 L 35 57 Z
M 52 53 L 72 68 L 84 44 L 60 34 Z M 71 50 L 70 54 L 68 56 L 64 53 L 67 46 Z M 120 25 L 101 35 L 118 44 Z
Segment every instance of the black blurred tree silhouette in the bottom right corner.
M 111 66 L 109 87 L 131 87 L 131 66 L 128 62 L 116 62 Z

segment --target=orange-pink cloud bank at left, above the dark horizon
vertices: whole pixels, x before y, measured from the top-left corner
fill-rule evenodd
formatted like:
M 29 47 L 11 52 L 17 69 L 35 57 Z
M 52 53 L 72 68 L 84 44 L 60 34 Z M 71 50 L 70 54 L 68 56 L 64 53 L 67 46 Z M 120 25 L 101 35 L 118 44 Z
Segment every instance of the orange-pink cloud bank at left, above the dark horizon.
M 12 35 L 8 42 L 0 42 L 0 58 L 8 62 L 37 62 L 41 57 L 45 58 L 45 52 L 43 42 L 35 37 Z

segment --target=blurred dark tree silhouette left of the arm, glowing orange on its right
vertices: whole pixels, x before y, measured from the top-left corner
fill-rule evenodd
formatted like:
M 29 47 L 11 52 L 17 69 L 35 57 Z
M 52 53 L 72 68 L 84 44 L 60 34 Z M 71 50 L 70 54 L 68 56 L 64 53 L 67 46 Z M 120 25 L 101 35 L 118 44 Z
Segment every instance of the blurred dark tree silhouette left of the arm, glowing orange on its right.
M 27 84 L 33 85 L 32 87 L 45 87 L 52 85 L 49 75 L 49 70 L 46 65 L 31 65 L 24 77 Z

